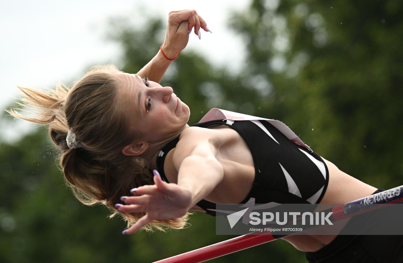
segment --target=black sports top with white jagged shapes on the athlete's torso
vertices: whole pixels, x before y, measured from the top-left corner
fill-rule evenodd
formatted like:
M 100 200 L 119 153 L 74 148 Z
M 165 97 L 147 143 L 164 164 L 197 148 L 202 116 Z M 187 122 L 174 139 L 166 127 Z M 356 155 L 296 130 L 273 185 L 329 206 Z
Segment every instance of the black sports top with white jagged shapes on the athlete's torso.
M 235 129 L 251 151 L 255 179 L 249 194 L 241 203 L 254 200 L 256 204 L 314 204 L 322 200 L 329 172 L 319 154 L 295 144 L 267 121 L 213 120 L 191 126 L 207 128 L 212 125 L 227 125 Z M 178 142 L 179 137 L 168 142 L 157 157 L 157 169 L 165 182 L 168 182 L 164 173 L 165 157 Z M 201 200 L 197 205 L 215 216 L 215 203 Z

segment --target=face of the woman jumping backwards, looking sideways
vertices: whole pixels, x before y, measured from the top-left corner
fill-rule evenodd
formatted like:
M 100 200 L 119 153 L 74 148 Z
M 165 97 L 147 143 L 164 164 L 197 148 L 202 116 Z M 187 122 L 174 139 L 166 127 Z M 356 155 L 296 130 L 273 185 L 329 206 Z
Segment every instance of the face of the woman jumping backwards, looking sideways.
M 144 135 L 141 140 L 158 142 L 186 126 L 189 107 L 172 93 L 171 87 L 135 74 L 121 72 L 118 78 L 130 127 Z

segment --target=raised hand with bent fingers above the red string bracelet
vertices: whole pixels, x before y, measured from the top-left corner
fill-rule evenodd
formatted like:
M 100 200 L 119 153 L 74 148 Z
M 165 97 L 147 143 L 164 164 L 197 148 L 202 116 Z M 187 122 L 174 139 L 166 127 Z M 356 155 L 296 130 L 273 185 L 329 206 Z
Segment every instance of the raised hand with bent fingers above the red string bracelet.
M 194 27 L 194 33 L 201 38 L 200 28 L 211 32 L 204 19 L 197 14 L 196 10 L 171 11 L 168 16 L 162 51 L 168 58 L 174 58 L 181 52 L 189 41 L 189 34 Z M 212 32 L 211 32 L 212 33 Z

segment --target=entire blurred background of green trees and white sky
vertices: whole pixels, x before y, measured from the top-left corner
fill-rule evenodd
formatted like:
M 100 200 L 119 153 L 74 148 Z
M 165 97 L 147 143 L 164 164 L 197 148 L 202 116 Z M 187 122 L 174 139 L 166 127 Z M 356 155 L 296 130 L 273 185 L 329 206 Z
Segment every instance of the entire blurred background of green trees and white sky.
M 403 184 L 403 2 L 2 1 L 0 106 L 15 85 L 71 83 L 92 65 L 136 73 L 164 41 L 170 10 L 196 9 L 212 34 L 191 34 L 161 84 L 191 109 L 279 119 L 342 171 L 377 188 Z M 215 219 L 123 236 L 105 207 L 63 183 L 46 127 L 0 119 L 0 262 L 152 262 L 234 236 Z M 305 262 L 283 240 L 210 262 Z

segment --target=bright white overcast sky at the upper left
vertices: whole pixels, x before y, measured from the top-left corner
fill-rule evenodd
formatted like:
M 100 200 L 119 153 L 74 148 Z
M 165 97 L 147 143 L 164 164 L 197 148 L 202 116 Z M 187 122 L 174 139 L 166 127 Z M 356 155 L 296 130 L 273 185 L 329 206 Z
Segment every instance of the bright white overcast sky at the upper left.
M 226 22 L 231 10 L 245 10 L 249 2 L 0 0 L 0 107 L 4 109 L 18 96 L 16 85 L 52 88 L 58 81 L 78 79 L 91 65 L 119 65 L 119 45 L 105 40 L 110 18 L 119 16 L 141 24 L 149 16 L 167 20 L 171 10 L 195 9 L 213 33 L 202 31 L 201 40 L 191 35 L 187 50 L 197 50 L 210 62 L 237 71 L 245 50 Z M 26 123 L 19 124 L 21 131 Z M 0 123 L 0 136 L 12 141 L 15 132 L 4 131 L 4 124 Z

